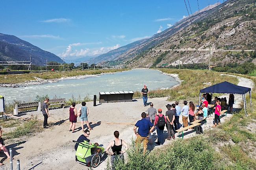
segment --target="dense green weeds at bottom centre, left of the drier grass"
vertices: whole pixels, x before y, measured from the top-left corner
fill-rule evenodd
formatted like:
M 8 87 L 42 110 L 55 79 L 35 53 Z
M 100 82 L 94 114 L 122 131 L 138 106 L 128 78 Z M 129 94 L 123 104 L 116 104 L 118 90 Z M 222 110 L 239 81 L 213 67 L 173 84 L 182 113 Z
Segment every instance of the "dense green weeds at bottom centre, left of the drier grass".
M 178 139 L 145 155 L 132 144 L 127 156 L 126 162 L 115 163 L 116 170 L 213 170 L 214 151 L 204 138 L 195 137 Z

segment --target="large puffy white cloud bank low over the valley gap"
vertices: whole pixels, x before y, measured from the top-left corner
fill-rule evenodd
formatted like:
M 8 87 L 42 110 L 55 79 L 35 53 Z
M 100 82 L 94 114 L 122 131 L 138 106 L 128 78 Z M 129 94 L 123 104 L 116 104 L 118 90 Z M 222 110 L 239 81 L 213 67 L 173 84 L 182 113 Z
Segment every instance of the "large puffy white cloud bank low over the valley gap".
M 119 44 L 113 46 L 113 47 L 101 47 L 98 49 L 73 49 L 73 47 L 82 46 L 85 44 L 92 44 L 92 43 L 74 43 L 69 44 L 69 46 L 66 48 L 66 51 L 59 54 L 60 57 L 86 57 L 86 56 L 94 56 L 94 55 L 100 55 L 107 53 L 108 51 L 111 51 L 113 49 L 117 49 L 120 47 Z

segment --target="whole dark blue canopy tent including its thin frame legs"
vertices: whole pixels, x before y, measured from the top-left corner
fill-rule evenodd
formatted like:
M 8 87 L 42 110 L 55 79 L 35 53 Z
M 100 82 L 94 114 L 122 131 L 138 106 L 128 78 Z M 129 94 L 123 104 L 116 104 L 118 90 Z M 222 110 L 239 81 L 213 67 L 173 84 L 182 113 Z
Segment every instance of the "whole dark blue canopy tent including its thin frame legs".
M 232 94 L 241 94 L 243 96 L 243 105 L 245 108 L 245 116 L 247 117 L 246 112 L 246 101 L 245 101 L 245 94 L 249 92 L 250 94 L 250 107 L 252 107 L 252 95 L 251 95 L 251 89 L 247 87 L 237 86 L 235 84 L 232 84 L 230 82 L 221 82 L 219 84 L 215 84 L 213 86 L 210 86 L 208 88 L 204 88 L 200 90 L 199 93 L 199 104 L 202 93 L 232 93 Z

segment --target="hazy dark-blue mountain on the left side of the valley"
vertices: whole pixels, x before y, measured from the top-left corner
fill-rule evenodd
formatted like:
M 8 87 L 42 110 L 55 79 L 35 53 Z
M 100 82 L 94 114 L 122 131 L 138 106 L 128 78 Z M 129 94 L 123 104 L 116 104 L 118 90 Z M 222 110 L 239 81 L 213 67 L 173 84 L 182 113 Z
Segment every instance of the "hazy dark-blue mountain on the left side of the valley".
M 21 40 L 13 35 L 0 33 L 0 60 L 2 61 L 17 61 L 30 60 L 36 65 L 44 65 L 47 60 L 54 62 L 63 62 L 58 56 L 44 51 L 29 42 Z

